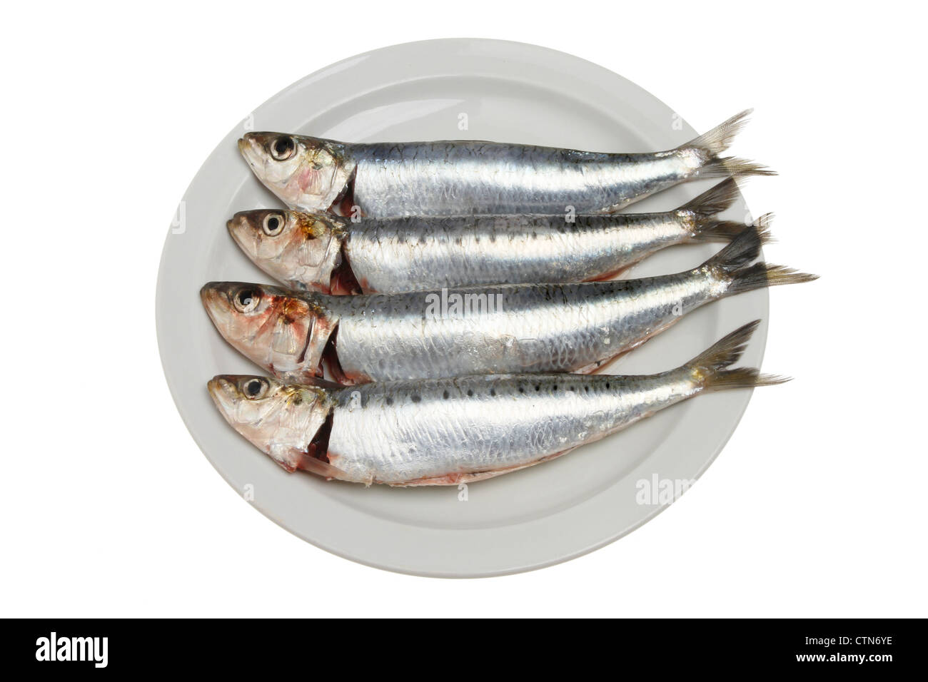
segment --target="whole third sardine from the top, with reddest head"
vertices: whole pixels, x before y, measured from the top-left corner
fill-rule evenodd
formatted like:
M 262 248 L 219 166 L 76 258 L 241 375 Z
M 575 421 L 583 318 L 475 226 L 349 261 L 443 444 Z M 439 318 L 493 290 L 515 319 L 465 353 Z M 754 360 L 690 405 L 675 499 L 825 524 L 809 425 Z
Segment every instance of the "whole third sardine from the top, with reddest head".
M 675 275 L 579 284 L 336 296 L 210 282 L 200 299 L 239 353 L 284 380 L 342 384 L 479 374 L 592 372 L 719 299 L 814 279 L 757 258 L 745 229 Z

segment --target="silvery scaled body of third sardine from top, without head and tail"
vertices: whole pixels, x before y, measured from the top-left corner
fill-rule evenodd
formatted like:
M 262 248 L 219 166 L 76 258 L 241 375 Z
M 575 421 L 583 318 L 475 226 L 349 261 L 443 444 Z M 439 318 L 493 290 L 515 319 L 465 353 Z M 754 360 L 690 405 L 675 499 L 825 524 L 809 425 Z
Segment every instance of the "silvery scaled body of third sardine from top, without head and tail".
M 428 315 L 422 292 L 318 300 L 338 320 L 339 362 L 348 376 L 400 380 L 576 370 L 650 336 L 712 300 L 717 290 L 717 282 L 700 272 L 486 287 L 476 295 L 498 305 L 479 315 Z M 449 290 L 447 296 L 464 300 L 469 291 Z M 440 305 L 441 294 L 429 295 Z

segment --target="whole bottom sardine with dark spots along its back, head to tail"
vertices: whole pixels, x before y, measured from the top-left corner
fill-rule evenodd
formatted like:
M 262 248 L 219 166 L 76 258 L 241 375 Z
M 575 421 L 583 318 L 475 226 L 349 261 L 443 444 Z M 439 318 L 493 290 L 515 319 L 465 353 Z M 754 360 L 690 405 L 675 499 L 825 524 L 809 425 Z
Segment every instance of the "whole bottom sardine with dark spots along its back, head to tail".
M 787 379 L 730 368 L 759 320 L 659 374 L 484 375 L 342 387 L 220 375 L 226 421 L 283 469 L 393 486 L 475 483 L 525 469 L 707 392 Z

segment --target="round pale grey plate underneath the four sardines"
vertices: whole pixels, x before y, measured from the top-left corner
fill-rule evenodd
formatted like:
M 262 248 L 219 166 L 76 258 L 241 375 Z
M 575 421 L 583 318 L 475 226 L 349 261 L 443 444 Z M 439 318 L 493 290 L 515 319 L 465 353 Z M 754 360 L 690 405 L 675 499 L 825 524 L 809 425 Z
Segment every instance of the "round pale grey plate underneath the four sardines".
M 719 122 L 733 111 L 720 111 Z M 260 373 L 219 336 L 198 292 L 209 280 L 267 282 L 226 233 L 232 213 L 277 206 L 238 155 L 247 130 L 349 142 L 487 139 L 595 151 L 673 148 L 696 132 L 657 98 L 580 58 L 535 45 L 437 40 L 394 45 L 307 76 L 258 107 L 213 151 L 181 201 L 161 257 L 157 325 L 177 409 L 226 481 L 307 542 L 382 569 L 432 576 L 516 573 L 568 560 L 632 531 L 702 473 L 751 392 L 700 396 L 567 457 L 467 489 L 365 488 L 288 474 L 233 431 L 206 381 Z M 675 187 L 629 211 L 675 208 L 710 187 Z M 731 215 L 743 218 L 742 203 Z M 668 249 L 632 277 L 690 268 L 718 245 Z M 612 364 L 614 373 L 677 367 L 755 318 L 743 363 L 759 366 L 767 292 L 715 302 Z M 670 495 L 670 496 L 668 496 Z

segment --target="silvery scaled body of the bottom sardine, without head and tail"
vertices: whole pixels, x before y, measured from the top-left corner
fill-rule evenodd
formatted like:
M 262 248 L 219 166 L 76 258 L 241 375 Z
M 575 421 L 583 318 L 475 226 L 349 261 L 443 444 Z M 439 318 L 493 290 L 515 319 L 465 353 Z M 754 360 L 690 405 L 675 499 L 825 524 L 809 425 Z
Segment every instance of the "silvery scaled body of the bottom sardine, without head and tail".
M 355 390 L 363 408 L 352 408 Z M 625 380 L 539 375 L 372 383 L 336 393 L 329 462 L 361 483 L 508 470 L 539 453 L 597 440 L 697 390 L 687 370 Z

